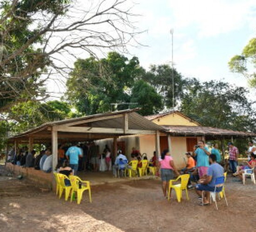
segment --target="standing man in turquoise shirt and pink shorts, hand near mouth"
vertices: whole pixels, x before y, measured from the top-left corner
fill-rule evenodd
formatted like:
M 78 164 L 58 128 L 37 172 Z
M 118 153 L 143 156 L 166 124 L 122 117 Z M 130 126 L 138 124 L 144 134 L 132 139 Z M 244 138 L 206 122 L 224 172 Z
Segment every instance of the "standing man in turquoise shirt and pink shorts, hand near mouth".
M 207 174 L 209 167 L 209 149 L 205 146 L 205 142 L 202 140 L 198 141 L 198 147 L 194 147 L 194 155 L 196 155 L 196 167 L 198 170 L 199 177 Z

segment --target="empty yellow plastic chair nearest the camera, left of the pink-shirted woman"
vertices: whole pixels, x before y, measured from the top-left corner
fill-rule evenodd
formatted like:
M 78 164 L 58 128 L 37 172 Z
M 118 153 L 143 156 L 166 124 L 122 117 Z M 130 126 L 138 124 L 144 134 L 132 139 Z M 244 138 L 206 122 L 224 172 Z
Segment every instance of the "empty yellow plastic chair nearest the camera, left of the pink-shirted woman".
M 77 204 L 80 204 L 80 202 L 81 202 L 81 200 L 82 200 L 83 192 L 84 192 L 85 190 L 88 190 L 90 203 L 92 203 L 91 187 L 90 187 L 90 182 L 89 182 L 89 181 L 81 180 L 78 176 L 71 175 L 71 176 L 70 176 L 70 182 L 71 182 L 71 186 L 72 186 L 72 192 L 71 192 L 70 201 L 73 200 L 73 199 L 72 199 L 72 196 L 73 196 L 73 194 L 76 192 L 76 193 L 77 193 Z M 86 183 L 86 186 L 81 185 L 81 188 L 79 188 L 79 182 L 81 182 L 81 184 L 82 184 L 82 183 Z

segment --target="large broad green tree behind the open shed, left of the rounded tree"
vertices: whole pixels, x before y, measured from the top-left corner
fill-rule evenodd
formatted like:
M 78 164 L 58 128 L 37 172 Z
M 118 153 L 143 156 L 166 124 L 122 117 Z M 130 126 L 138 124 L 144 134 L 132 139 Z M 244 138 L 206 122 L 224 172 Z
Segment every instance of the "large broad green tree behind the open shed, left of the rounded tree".
M 87 115 L 109 111 L 110 103 L 130 102 L 129 89 L 142 72 L 138 58 L 117 52 L 101 60 L 78 59 L 67 80 L 67 100 Z

